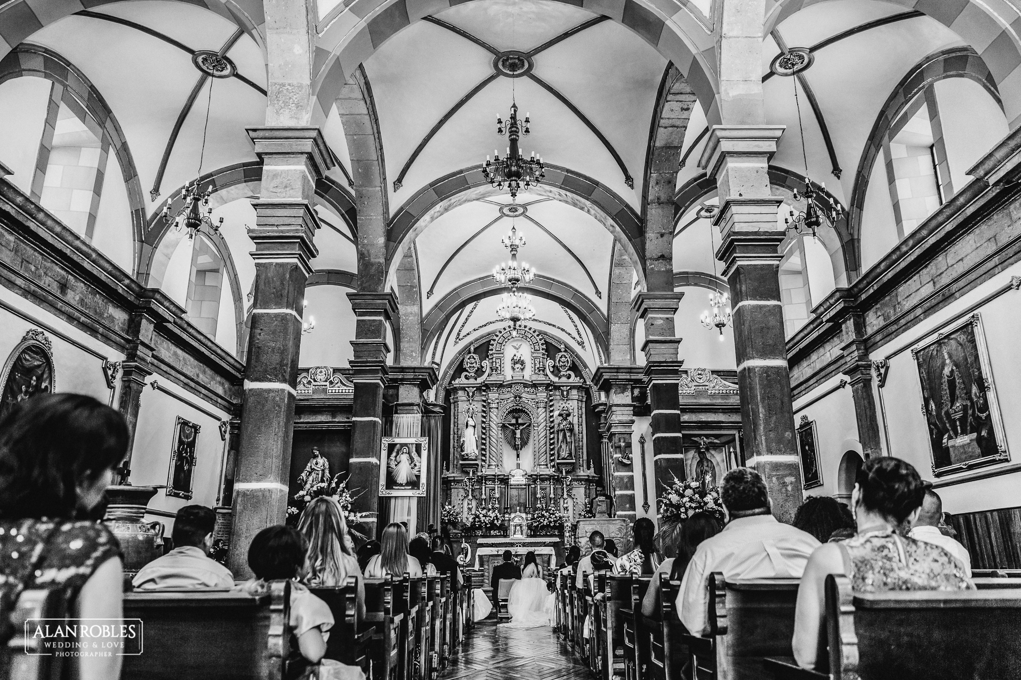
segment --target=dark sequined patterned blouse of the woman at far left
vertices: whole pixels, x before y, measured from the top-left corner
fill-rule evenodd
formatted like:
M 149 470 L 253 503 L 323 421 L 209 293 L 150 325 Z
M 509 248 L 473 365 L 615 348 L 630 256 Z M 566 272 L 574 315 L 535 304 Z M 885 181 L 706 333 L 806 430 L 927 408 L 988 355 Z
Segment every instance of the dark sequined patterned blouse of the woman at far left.
M 115 557 L 120 544 L 102 523 L 0 520 L 0 594 L 13 594 L 25 581 L 26 589 L 63 589 L 70 601 L 100 565 Z

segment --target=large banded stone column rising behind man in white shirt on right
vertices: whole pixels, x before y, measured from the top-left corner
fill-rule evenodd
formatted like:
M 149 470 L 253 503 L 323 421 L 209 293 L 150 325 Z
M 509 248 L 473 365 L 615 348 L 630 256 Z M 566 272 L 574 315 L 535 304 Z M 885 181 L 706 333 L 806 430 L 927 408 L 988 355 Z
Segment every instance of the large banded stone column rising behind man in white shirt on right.
M 734 350 L 740 386 L 745 464 L 766 480 L 773 514 L 789 522 L 801 503 L 801 472 L 787 368 L 780 302 L 777 209 L 770 192 L 769 160 L 782 125 L 716 125 L 699 165 L 716 177 L 723 243 L 734 314 Z M 654 408 L 654 407 L 653 407 Z

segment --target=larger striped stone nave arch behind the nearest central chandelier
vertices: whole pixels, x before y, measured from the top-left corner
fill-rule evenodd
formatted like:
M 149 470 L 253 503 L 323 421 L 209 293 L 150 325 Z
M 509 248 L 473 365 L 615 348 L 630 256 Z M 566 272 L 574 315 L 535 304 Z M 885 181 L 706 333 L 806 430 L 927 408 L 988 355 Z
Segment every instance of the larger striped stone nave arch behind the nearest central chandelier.
M 546 165 L 546 178 L 529 192 L 555 199 L 593 217 L 624 248 L 644 284 L 644 234 L 638 213 L 609 187 L 580 172 Z M 482 176 L 482 166 L 451 172 L 423 187 L 397 209 L 387 227 L 387 270 L 400 262 L 403 251 L 433 220 L 480 198 L 498 195 Z

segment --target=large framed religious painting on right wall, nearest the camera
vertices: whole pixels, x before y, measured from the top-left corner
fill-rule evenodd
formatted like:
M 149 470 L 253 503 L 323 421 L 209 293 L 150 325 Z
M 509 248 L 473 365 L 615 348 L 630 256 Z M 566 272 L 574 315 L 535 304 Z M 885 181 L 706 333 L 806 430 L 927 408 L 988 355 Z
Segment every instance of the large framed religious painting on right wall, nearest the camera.
M 972 314 L 911 349 L 939 477 L 1010 460 L 982 319 Z

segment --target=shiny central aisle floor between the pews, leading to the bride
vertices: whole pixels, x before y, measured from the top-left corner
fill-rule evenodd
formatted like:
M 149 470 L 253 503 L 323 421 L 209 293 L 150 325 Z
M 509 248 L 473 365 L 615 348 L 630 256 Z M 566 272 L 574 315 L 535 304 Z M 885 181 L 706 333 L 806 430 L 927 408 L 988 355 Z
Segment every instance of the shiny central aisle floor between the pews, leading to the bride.
M 476 624 L 441 680 L 585 680 L 588 671 L 550 628 Z

